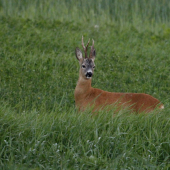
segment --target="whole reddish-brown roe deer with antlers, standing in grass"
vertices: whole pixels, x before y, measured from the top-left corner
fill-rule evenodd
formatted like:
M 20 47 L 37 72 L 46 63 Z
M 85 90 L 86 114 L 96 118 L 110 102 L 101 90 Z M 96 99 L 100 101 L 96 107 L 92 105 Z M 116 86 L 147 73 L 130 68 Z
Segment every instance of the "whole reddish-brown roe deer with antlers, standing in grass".
M 75 88 L 74 97 L 76 107 L 84 111 L 88 106 L 93 107 L 93 112 L 100 109 L 104 109 L 107 106 L 117 107 L 117 110 L 121 108 L 128 108 L 133 112 L 150 112 L 155 108 L 163 109 L 164 105 L 160 101 L 148 94 L 144 93 L 114 93 L 107 92 L 101 89 L 91 87 L 92 76 L 95 68 L 95 49 L 94 40 L 92 40 L 92 46 L 89 57 L 87 56 L 87 47 L 90 39 L 84 46 L 82 36 L 82 46 L 85 52 L 85 57 L 79 48 L 76 48 L 76 57 L 79 60 L 80 70 L 79 79 Z M 108 107 L 108 108 L 109 108 Z

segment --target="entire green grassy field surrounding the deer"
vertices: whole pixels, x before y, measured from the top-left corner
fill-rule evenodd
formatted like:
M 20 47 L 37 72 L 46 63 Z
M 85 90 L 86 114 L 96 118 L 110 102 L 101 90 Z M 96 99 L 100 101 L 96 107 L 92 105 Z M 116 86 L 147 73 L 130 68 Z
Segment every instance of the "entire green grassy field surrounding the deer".
M 93 87 L 165 109 L 77 113 L 82 35 L 95 41 Z M 170 169 L 169 47 L 168 0 L 1 0 L 0 169 Z

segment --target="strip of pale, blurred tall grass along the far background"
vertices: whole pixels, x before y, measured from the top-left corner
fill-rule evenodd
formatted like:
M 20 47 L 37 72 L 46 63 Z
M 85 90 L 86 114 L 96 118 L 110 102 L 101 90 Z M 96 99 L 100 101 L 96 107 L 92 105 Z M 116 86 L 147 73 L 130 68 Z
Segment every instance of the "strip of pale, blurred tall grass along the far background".
M 118 23 L 169 23 L 169 0 L 1 0 L 1 15 Z

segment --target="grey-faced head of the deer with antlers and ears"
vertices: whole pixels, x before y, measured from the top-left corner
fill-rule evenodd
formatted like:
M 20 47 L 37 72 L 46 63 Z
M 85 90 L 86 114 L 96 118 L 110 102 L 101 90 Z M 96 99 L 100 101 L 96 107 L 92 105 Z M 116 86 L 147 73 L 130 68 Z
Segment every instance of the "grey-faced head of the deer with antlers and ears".
M 88 48 L 89 42 L 90 42 L 90 39 L 85 47 L 84 42 L 83 42 L 83 36 L 82 36 L 82 46 L 83 46 L 83 50 L 85 53 L 85 57 L 83 57 L 83 54 L 78 47 L 76 48 L 76 51 L 75 51 L 76 58 L 79 60 L 79 64 L 80 64 L 80 74 L 85 79 L 90 79 L 93 76 L 93 72 L 95 68 L 94 60 L 95 60 L 96 52 L 94 49 L 94 40 L 92 40 L 93 43 L 91 46 L 90 55 L 89 57 L 87 57 L 87 48 Z

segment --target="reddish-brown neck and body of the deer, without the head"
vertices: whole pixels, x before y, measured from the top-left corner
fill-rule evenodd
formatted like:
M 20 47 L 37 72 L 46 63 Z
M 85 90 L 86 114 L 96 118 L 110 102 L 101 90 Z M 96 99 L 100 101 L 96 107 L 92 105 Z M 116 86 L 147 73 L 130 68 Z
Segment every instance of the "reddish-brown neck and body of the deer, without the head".
M 160 101 L 144 93 L 114 93 L 91 87 L 91 79 L 86 80 L 79 75 L 75 89 L 75 102 L 79 110 L 93 106 L 93 111 L 98 111 L 106 106 L 117 107 L 118 110 L 128 108 L 134 112 L 150 112 L 156 107 L 163 108 Z

